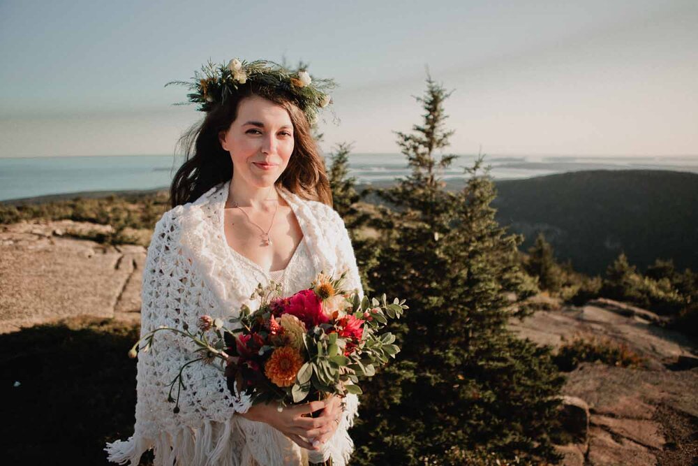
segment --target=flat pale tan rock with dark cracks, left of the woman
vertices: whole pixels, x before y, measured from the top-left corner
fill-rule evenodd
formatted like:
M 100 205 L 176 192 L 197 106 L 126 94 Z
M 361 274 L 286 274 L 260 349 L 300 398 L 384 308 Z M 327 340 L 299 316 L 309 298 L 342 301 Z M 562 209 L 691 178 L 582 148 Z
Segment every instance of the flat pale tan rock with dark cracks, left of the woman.
M 70 220 L 0 226 L 0 333 L 69 316 L 140 321 L 146 250 L 71 235 L 110 226 Z

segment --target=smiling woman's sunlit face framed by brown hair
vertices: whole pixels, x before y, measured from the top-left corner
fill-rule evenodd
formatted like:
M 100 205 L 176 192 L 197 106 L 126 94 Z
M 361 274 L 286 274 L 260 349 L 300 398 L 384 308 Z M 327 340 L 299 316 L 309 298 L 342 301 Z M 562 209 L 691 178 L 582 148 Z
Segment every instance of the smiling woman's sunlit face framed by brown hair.
M 232 182 L 269 187 L 288 166 L 293 152 L 293 124 L 288 112 L 259 96 L 239 102 L 237 118 L 218 135 L 232 159 Z

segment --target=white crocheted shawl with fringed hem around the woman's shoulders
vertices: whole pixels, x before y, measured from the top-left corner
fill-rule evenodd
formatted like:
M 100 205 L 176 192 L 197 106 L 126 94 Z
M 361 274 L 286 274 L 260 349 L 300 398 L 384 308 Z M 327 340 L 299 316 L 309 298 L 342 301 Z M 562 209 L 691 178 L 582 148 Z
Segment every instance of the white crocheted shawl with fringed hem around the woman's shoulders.
M 158 328 L 195 328 L 199 316 L 228 318 L 249 303 L 258 281 L 239 262 L 231 260 L 223 230 L 223 207 L 230 182 L 218 184 L 193 203 L 165 212 L 155 227 L 143 270 L 141 335 Z M 279 188 L 304 233 L 315 270 L 339 275 L 348 270 L 346 286 L 364 292 L 346 226 L 332 207 L 306 201 Z M 225 260 L 222 260 L 226 258 Z M 142 453 L 154 449 L 156 466 L 306 465 L 308 451 L 266 423 L 235 414 L 246 412 L 250 400 L 233 398 L 225 377 L 216 367 L 188 365 L 179 399 L 180 412 L 167 401 L 170 382 L 179 368 L 191 361 L 195 346 L 172 332 L 159 332 L 147 352 L 138 354 L 134 434 L 107 444 L 110 461 L 138 465 Z M 173 396 L 176 393 L 175 385 Z M 325 456 L 346 465 L 354 445 L 348 428 L 357 416 L 355 395 Z

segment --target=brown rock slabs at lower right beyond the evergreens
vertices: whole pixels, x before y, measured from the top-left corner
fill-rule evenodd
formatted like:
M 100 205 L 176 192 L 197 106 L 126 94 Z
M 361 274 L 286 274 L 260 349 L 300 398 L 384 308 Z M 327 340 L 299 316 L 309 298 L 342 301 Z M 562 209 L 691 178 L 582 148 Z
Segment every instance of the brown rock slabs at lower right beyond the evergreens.
M 575 337 L 625 344 L 645 367 L 583 363 L 568 374 L 563 406 L 574 443 L 560 446 L 567 466 L 696 465 L 698 358 L 680 333 L 646 310 L 594 300 L 582 307 L 548 301 L 510 328 L 556 348 Z

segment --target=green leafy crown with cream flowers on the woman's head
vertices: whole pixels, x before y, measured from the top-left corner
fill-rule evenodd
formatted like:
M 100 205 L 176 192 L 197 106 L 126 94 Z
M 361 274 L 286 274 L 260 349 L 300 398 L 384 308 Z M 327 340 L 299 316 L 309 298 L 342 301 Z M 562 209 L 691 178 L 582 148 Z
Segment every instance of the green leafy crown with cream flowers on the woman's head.
M 223 104 L 246 86 L 253 85 L 262 92 L 281 92 L 288 96 L 303 110 L 311 124 L 317 121 L 318 109 L 332 103 L 332 97 L 327 92 L 336 87 L 332 79 L 312 78 L 303 64 L 292 70 L 274 61 L 248 62 L 237 58 L 230 60 L 227 65 L 214 64 L 209 60 L 208 64 L 202 66 L 200 73 L 194 72 L 192 79 L 193 82 L 172 81 L 165 85 L 184 85 L 192 91 L 187 94 L 188 102 L 174 105 L 198 103 L 197 110 L 209 112 L 214 104 Z

